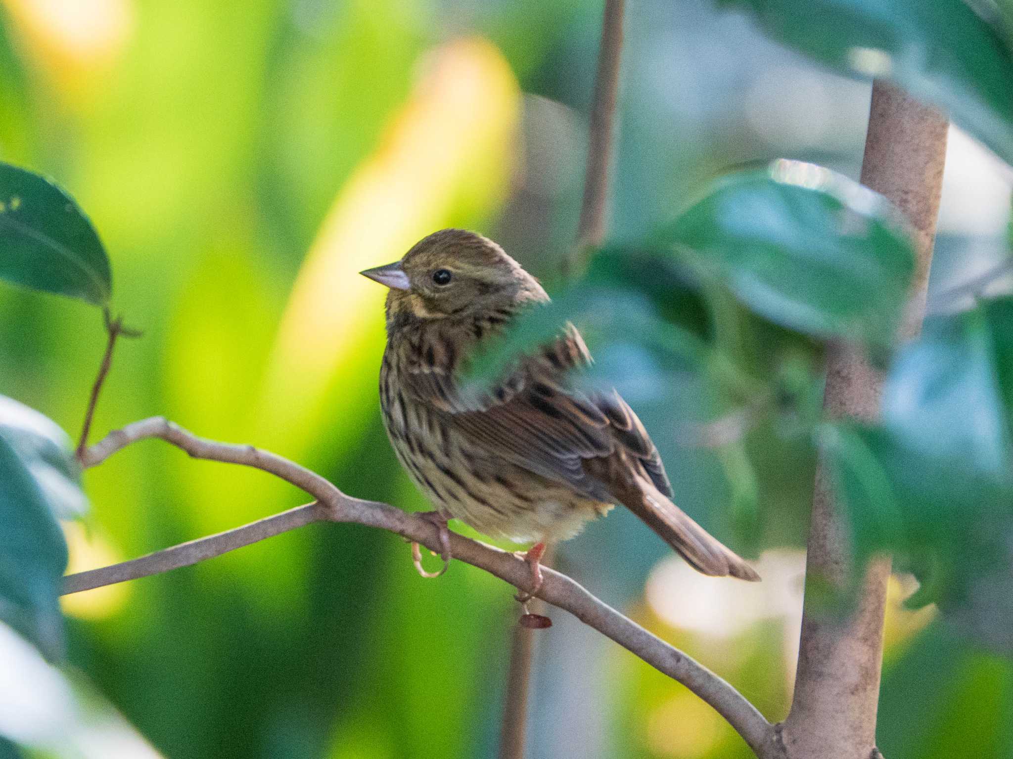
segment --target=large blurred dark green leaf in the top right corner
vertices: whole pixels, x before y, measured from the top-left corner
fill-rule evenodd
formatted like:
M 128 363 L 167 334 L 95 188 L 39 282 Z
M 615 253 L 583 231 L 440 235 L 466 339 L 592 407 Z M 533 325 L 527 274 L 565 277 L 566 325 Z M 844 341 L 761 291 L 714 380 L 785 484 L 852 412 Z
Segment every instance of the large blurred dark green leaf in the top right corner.
M 1013 163 L 1013 54 L 1005 26 L 963 0 L 717 0 L 838 71 L 888 78 L 948 111 Z

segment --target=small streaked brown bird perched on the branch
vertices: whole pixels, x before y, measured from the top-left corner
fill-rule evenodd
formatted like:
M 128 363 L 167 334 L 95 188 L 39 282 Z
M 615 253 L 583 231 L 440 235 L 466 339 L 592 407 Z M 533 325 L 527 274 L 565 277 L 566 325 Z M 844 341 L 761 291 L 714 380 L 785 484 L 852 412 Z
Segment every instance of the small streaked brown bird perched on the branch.
M 384 424 L 402 466 L 447 520 L 534 542 L 532 590 L 547 543 L 573 537 L 621 503 L 705 575 L 760 577 L 673 502 L 657 449 L 619 394 L 565 382 L 591 360 L 575 328 L 525 358 L 487 396 L 465 397 L 459 370 L 474 349 L 545 290 L 481 235 L 443 230 L 396 263 L 362 272 L 390 287 L 380 369 Z M 445 565 L 446 566 L 446 565 Z

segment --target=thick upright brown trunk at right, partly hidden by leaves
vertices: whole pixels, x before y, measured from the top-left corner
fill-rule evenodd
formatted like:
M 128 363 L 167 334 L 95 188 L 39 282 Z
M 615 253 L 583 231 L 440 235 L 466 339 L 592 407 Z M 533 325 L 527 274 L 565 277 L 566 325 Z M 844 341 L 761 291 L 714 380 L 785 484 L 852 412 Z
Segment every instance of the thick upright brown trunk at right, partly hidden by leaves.
M 897 88 L 872 89 L 862 183 L 908 217 L 915 232 L 917 268 L 901 330 L 915 336 L 925 313 L 936 217 L 946 155 L 946 120 Z M 872 419 L 881 377 L 848 347 L 831 351 L 825 407 L 832 416 Z M 781 740 L 792 759 L 869 759 L 875 748 L 882 662 L 882 623 L 888 558 L 866 568 L 856 608 L 847 619 L 821 612 L 813 590 L 847 581 L 848 536 L 835 513 L 829 477 L 816 473 L 806 559 L 806 598 L 791 711 Z

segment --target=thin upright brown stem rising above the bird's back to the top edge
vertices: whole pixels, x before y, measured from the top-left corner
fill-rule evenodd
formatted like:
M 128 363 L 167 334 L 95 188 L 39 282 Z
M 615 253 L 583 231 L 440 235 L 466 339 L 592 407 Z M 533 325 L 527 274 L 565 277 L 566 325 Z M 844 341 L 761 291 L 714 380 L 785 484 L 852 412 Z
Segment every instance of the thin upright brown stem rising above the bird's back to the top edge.
M 612 164 L 616 102 L 619 97 L 619 62 L 623 49 L 624 5 L 625 0 L 605 0 L 595 96 L 591 106 L 583 201 L 577 223 L 576 245 L 562 261 L 564 274 L 577 273 L 585 264 L 588 251 L 601 245 L 605 238 L 609 169 Z

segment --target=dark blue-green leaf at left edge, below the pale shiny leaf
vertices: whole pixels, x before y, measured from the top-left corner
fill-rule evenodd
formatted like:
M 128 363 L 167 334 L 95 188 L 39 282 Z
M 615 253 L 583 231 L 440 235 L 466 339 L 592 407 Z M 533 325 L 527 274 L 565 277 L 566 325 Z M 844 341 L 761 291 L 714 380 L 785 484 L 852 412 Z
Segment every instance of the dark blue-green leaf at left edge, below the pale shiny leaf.
M 60 655 L 60 578 L 67 545 L 31 473 L 0 436 L 0 620 Z

